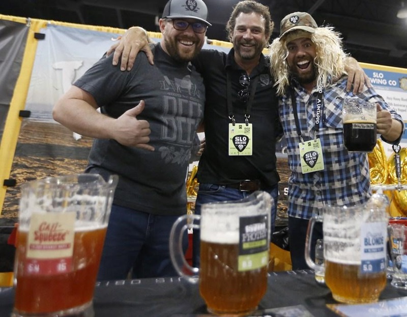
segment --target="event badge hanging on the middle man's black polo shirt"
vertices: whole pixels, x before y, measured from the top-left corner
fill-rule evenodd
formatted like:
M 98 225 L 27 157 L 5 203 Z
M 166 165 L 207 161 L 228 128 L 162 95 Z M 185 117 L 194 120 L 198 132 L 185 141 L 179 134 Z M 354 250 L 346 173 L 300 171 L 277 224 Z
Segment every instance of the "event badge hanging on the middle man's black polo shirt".
M 229 155 L 252 155 L 252 124 L 229 123 Z

